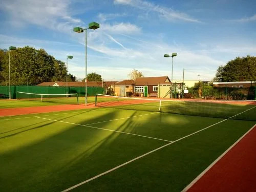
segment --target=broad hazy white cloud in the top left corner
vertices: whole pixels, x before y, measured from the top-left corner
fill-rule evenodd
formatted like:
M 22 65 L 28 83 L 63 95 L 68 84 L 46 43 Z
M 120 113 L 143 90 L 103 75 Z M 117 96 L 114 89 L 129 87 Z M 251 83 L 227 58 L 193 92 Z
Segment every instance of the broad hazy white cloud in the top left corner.
M 4 0 L 0 9 L 8 18 L 20 25 L 39 25 L 50 29 L 70 29 L 71 24 L 81 24 L 81 20 L 70 14 L 68 0 Z

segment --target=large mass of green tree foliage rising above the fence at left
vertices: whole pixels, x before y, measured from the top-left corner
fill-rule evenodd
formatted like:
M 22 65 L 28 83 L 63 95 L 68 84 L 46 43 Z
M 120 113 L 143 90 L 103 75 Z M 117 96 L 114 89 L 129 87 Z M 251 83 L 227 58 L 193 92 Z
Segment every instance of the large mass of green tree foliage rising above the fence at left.
M 0 50 L 0 84 L 9 84 L 9 54 L 11 84 L 35 85 L 44 81 L 66 81 L 65 63 L 56 60 L 44 49 L 26 46 L 15 51 Z M 76 77 L 69 75 L 70 81 Z

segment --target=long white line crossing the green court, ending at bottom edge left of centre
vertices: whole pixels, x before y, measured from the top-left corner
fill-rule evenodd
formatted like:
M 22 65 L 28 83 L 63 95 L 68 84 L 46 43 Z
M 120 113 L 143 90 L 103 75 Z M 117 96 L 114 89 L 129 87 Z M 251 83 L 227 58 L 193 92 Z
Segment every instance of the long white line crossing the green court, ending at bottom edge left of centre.
M 254 106 L 253 108 L 256 108 L 256 106 Z M 253 108 L 250 108 L 250 109 L 248 109 L 248 110 L 246 110 L 246 111 L 243 111 L 243 112 L 241 112 L 241 113 L 239 113 L 239 114 L 237 114 L 237 115 L 240 115 L 240 114 L 242 114 L 242 113 L 244 113 L 244 112 L 247 112 L 247 111 L 249 111 L 249 110 L 251 110 L 251 109 L 253 109 Z M 235 116 L 237 116 L 237 115 L 234 115 L 234 116 L 232 116 L 232 117 L 235 117 Z M 126 165 L 126 164 L 129 164 L 129 163 L 131 163 L 131 162 L 133 162 L 133 161 L 135 161 L 135 160 L 137 160 L 137 159 L 140 159 L 140 158 L 142 158 L 142 157 L 144 157 L 144 156 L 146 156 L 146 155 L 148 155 L 148 154 L 151 154 L 151 153 L 153 153 L 153 152 L 155 152 L 155 151 L 158 151 L 158 150 L 160 150 L 160 149 L 163 148 L 163 147 L 166 147 L 166 146 L 168 146 L 168 145 L 171 145 L 171 144 L 173 144 L 173 143 L 175 143 L 175 142 L 177 142 L 177 141 L 180 141 L 180 140 L 182 140 L 182 139 L 185 139 L 185 138 L 187 138 L 187 137 L 189 137 L 189 136 L 191 136 L 191 135 L 197 134 L 197 133 L 199 133 L 199 132 L 201 132 L 201 131 L 203 131 L 203 130 L 208 129 L 208 128 L 211 127 L 211 126 L 217 125 L 217 124 L 219 124 L 219 123 L 221 123 L 221 122 L 224 122 L 224 121 L 226 121 L 226 120 L 228 120 L 228 119 L 230 119 L 230 118 L 232 118 L 232 117 L 229 117 L 229 118 L 227 118 L 227 119 L 224 119 L 224 120 L 222 120 L 222 121 L 219 121 L 219 122 L 217 122 L 217 123 L 215 123 L 215 124 L 209 125 L 209 126 L 205 127 L 205 128 L 202 129 L 202 130 L 196 131 L 196 132 L 191 133 L 191 134 L 189 134 L 189 135 L 187 135 L 187 136 L 184 136 L 184 137 L 182 137 L 182 138 L 180 138 L 180 139 L 177 139 L 177 140 L 175 140 L 175 141 L 173 141 L 173 142 L 170 142 L 170 143 L 167 143 L 167 144 L 165 144 L 165 145 L 163 145 L 163 146 L 160 146 L 160 147 L 156 148 L 155 150 L 152 150 L 152 151 L 147 152 L 147 153 L 145 153 L 145 154 L 143 154 L 143 155 L 141 155 L 141 156 L 139 156 L 139 157 L 136 157 L 136 158 L 134 158 L 134 159 L 132 159 L 132 160 L 130 160 L 130 161 L 127 161 L 127 162 L 125 162 L 125 163 L 123 163 L 123 164 L 120 164 L 120 165 L 118 165 L 118 166 L 116 166 L 116 167 L 114 167 L 114 168 L 112 168 L 112 169 L 107 170 L 106 172 L 103 172 L 103 173 L 101 173 L 101 174 L 99 174 L 99 175 L 96 175 L 96 176 L 94 176 L 94 177 L 92 177 L 92 178 L 90 178 L 90 179 L 88 179 L 88 180 L 86 180 L 86 181 L 83 181 L 83 182 L 81 182 L 81 183 L 78 183 L 78 184 L 76 184 L 76 185 L 74 185 L 74 186 L 72 186 L 72 187 L 70 187 L 70 188 L 67 188 L 67 189 L 61 191 L 61 192 L 70 191 L 70 190 L 72 190 L 72 189 L 74 189 L 74 188 L 76 188 L 76 187 L 78 187 L 78 186 L 80 186 L 80 185 L 83 185 L 83 184 L 85 184 L 85 183 L 88 183 L 89 181 L 92 181 L 92 180 L 94 180 L 94 179 L 97 179 L 98 177 L 101 177 L 101 176 L 103 176 L 103 175 L 105 175 L 105 174 L 108 174 L 108 173 L 110 173 L 110 172 L 113 172 L 113 170 L 116 170 L 116 169 L 118 169 L 118 168 L 120 168 L 120 167 L 122 167 L 122 166 L 124 166 L 124 165 Z

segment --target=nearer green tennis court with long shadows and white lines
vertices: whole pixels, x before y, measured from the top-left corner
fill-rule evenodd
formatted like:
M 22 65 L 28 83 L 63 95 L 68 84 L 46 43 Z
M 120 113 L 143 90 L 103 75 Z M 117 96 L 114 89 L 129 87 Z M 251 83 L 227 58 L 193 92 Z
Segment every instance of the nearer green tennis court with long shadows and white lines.
M 97 100 L 0 117 L 0 190 L 181 191 L 256 123 L 255 101 Z

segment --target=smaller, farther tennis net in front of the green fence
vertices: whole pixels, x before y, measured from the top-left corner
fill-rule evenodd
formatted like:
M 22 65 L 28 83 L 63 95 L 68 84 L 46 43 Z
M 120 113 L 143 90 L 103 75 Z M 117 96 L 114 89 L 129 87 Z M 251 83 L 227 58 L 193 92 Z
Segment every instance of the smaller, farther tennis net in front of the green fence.
M 79 104 L 78 94 L 39 94 L 39 93 L 26 93 L 17 91 L 16 98 L 26 101 L 41 101 L 59 104 Z

